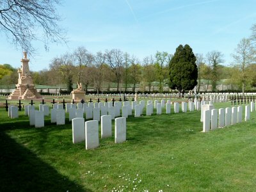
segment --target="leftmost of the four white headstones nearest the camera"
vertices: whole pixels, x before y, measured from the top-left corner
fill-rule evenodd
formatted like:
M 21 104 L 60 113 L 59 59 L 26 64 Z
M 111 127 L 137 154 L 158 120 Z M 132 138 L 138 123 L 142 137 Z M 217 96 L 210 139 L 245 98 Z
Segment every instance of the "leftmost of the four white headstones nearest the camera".
M 79 143 L 85 140 L 84 118 L 72 119 L 72 139 L 73 143 Z

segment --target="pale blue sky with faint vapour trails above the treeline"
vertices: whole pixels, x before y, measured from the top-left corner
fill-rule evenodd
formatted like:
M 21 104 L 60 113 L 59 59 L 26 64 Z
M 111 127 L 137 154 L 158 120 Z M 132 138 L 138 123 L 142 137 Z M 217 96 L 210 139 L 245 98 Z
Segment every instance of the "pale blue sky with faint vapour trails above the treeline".
M 30 58 L 33 71 L 49 67 L 52 58 L 84 46 L 96 53 L 120 49 L 142 60 L 156 51 L 175 52 L 189 44 L 194 53 L 221 51 L 225 63 L 256 23 L 256 0 L 93 0 L 63 1 L 58 12 L 67 30 L 67 45 L 34 42 L 38 54 Z M 0 63 L 20 66 L 22 50 L 0 33 Z

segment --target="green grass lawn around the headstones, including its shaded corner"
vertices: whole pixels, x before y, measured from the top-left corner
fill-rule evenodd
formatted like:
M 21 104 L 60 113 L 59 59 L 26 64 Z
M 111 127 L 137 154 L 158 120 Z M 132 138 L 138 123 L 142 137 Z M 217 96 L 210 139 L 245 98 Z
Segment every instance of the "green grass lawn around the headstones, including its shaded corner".
M 125 143 L 100 139 L 85 150 L 72 144 L 68 116 L 59 126 L 47 116 L 36 129 L 24 111 L 13 120 L 1 108 L 0 191 L 256 191 L 256 112 L 207 133 L 200 111 L 164 112 L 129 116 Z

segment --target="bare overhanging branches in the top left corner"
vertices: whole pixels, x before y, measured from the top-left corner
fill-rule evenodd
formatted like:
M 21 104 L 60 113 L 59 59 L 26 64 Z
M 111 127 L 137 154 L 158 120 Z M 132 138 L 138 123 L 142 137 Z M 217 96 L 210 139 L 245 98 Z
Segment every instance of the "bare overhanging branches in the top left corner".
M 58 26 L 60 17 L 55 8 L 58 4 L 59 0 L 1 0 L 1 32 L 30 54 L 35 52 L 33 40 L 43 41 L 45 50 L 49 49 L 49 42 L 65 42 L 65 31 Z M 38 33 L 38 27 L 43 34 Z

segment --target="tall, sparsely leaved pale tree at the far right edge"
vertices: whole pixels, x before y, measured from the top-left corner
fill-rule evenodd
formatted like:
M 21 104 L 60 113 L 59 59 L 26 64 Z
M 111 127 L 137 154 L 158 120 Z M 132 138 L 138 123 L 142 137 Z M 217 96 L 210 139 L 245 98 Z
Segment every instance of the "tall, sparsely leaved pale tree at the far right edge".
M 249 81 L 248 76 L 250 70 L 248 70 L 248 67 L 256 61 L 255 50 L 253 49 L 250 39 L 243 38 L 239 44 L 237 44 L 237 48 L 234 54 L 232 54 L 232 57 L 234 58 L 234 67 L 239 70 L 239 76 L 236 76 L 236 78 L 239 78 L 241 81 L 244 95 L 244 88 Z

